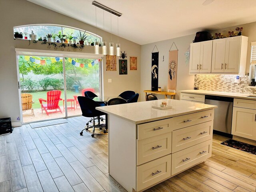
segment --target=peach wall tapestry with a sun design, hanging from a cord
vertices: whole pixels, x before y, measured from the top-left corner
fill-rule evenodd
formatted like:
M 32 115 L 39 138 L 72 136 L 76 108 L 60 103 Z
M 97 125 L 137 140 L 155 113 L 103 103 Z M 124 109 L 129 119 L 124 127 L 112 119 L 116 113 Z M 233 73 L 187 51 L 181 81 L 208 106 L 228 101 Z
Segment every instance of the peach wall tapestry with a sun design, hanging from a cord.
M 175 45 L 173 42 L 172 45 Z M 176 47 L 176 45 L 175 45 Z M 171 46 L 172 48 L 172 46 Z M 170 50 L 171 50 L 170 48 Z M 169 50 L 169 63 L 168 63 L 168 89 L 176 90 L 177 82 L 177 64 L 178 64 L 178 49 L 170 51 Z

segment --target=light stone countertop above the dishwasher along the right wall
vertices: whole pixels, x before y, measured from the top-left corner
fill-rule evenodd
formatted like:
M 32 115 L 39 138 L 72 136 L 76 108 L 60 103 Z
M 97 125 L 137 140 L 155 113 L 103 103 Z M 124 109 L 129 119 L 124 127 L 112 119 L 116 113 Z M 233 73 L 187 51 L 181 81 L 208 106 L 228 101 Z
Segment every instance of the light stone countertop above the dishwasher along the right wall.
M 206 90 L 182 90 L 181 93 L 192 93 L 200 95 L 213 95 L 213 96 L 223 96 L 223 97 L 232 97 L 239 99 L 250 99 L 256 100 L 256 95 L 245 94 L 245 93 L 231 93 L 231 92 L 220 92 L 220 91 L 206 91 Z M 248 97 L 252 96 L 252 97 Z

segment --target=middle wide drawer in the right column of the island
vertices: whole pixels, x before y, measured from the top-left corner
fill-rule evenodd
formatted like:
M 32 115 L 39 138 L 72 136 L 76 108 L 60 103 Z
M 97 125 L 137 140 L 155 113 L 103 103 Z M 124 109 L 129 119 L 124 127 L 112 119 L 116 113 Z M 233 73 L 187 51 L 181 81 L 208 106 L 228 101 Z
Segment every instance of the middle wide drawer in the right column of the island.
M 174 130 L 172 132 L 172 153 L 211 139 L 212 130 L 213 121 Z

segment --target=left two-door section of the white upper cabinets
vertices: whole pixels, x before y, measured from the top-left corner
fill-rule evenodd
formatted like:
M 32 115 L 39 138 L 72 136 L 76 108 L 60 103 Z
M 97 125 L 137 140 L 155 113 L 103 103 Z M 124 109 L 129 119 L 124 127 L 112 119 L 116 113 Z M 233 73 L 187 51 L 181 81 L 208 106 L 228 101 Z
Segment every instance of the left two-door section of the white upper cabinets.
M 212 40 L 190 44 L 190 73 L 210 73 Z

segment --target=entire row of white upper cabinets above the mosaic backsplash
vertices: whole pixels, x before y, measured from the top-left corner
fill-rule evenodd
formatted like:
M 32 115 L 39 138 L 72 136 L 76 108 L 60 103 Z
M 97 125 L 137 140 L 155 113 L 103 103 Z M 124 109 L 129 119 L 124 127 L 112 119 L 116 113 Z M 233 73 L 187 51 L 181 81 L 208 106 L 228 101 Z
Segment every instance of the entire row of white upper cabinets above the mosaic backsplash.
M 198 51 L 199 44 L 200 52 Z M 212 45 L 212 47 L 210 45 Z M 190 44 L 189 72 L 194 74 L 244 74 L 246 69 L 247 46 L 248 37 L 246 36 L 236 36 L 200 43 L 192 43 Z M 211 54 L 209 54 L 210 50 Z M 199 65 L 197 66 L 198 60 Z

